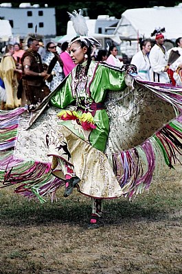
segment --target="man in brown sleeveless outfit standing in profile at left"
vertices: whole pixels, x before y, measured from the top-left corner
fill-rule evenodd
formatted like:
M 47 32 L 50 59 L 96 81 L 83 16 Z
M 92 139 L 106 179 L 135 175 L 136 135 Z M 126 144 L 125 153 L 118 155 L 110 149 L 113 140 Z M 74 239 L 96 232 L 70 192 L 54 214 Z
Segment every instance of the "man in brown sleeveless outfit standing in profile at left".
M 22 90 L 19 88 L 18 92 L 21 105 L 40 103 L 50 92 L 44 82 L 48 74 L 43 69 L 41 55 L 38 53 L 38 38 L 30 36 L 27 39 L 27 47 L 21 58 L 23 77 L 20 86 L 22 85 Z

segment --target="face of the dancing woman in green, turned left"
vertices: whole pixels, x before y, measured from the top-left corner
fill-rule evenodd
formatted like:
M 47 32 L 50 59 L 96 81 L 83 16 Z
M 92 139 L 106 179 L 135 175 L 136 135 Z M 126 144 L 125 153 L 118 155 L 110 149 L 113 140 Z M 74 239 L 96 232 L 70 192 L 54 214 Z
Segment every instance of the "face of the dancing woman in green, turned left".
M 75 64 L 82 64 L 82 62 L 87 60 L 84 57 L 85 53 L 87 53 L 87 47 L 82 48 L 78 42 L 73 42 L 69 47 L 69 54 Z

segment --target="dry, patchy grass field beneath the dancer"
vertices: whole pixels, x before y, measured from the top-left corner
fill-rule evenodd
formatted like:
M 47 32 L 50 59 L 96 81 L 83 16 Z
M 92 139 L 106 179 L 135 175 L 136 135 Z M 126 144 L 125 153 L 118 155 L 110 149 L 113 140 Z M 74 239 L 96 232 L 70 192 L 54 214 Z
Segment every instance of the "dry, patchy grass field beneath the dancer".
M 87 229 L 88 197 L 38 203 L 0 190 L 1 274 L 181 274 L 181 166 L 164 169 L 150 191 L 104 202 L 104 226 Z

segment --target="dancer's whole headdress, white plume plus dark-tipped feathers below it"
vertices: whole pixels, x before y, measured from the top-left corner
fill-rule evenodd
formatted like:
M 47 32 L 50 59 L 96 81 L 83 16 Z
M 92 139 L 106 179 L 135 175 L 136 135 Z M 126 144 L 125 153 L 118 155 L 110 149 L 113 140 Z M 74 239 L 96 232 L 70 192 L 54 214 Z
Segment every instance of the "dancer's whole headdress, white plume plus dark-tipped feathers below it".
M 97 46 L 100 47 L 101 44 L 100 42 L 98 42 L 98 40 L 96 40 L 95 38 L 88 36 L 88 27 L 87 27 L 87 23 L 86 20 L 84 18 L 84 16 L 82 15 L 82 10 L 79 9 L 78 10 L 79 13 L 74 10 L 72 12 L 72 14 L 70 12 L 67 12 L 69 14 L 69 18 L 70 20 L 73 22 L 73 28 L 76 31 L 76 34 L 78 35 L 78 38 L 76 40 L 73 40 L 73 42 L 76 42 L 77 40 L 81 40 L 82 42 L 85 43 L 85 45 L 87 45 L 87 47 L 89 46 Z M 71 45 L 72 42 L 69 42 L 69 46 Z

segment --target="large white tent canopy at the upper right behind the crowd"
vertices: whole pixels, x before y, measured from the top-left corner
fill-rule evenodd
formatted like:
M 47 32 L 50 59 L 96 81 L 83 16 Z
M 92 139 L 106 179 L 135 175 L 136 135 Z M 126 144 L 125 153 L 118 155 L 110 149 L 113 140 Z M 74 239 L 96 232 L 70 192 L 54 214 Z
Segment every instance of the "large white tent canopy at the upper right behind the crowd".
M 117 24 L 114 34 L 121 40 L 151 38 L 150 34 L 157 27 L 165 27 L 163 33 L 168 40 L 182 36 L 182 3 L 172 8 L 153 7 L 126 10 Z

